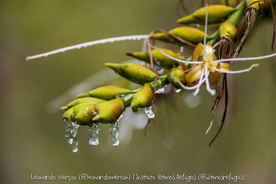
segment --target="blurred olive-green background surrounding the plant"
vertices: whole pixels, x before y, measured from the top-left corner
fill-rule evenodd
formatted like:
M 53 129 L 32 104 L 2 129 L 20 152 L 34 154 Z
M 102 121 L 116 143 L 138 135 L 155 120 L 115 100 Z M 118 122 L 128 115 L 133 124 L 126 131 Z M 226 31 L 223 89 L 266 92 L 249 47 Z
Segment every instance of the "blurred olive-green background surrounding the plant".
M 25 61 L 25 57 L 101 38 L 148 34 L 160 28 L 170 30 L 179 26 L 175 23 L 179 18 L 175 12 L 177 4 L 177 0 L 0 2 L 1 183 L 68 182 L 31 180 L 31 173 L 40 176 L 233 173 L 245 175 L 240 183 L 275 182 L 275 58 L 234 64 L 236 70 L 252 63 L 261 65 L 249 73 L 229 75 L 227 121 L 211 147 L 208 144 L 220 125 L 223 103 L 206 135 L 214 97 L 203 87 L 197 98 L 192 98 L 189 91 L 158 95 L 156 128 L 152 126 L 145 137 L 141 129 L 144 125 L 139 124 L 144 114 L 132 114 L 128 109 L 122 120 L 123 138 L 118 147 L 111 146 L 108 126 L 101 125 L 98 146 L 88 144 L 88 127 L 80 127 L 79 151 L 70 151 L 64 136 L 63 112 L 57 108 L 65 104 L 58 102 L 67 103 L 90 87 L 108 84 L 134 88 L 122 78 L 106 80 L 115 76 L 109 70 L 98 72 L 106 68 L 105 62 L 130 59 L 125 53 L 140 51 L 142 41 L 95 45 L 31 61 Z M 191 12 L 200 7 L 201 1 L 185 1 L 185 4 Z M 271 36 L 271 18 L 261 19 L 240 57 L 272 53 Z M 77 86 L 78 92 L 74 89 L 66 93 L 89 77 L 88 84 Z M 71 181 L 75 182 L 80 181 Z M 183 183 L 179 180 L 131 182 Z

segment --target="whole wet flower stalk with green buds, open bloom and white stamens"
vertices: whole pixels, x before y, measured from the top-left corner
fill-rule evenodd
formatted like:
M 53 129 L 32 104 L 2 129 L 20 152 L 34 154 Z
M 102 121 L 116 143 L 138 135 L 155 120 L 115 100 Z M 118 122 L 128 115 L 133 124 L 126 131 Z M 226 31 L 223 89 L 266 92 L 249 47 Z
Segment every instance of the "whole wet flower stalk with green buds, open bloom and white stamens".
M 98 43 L 145 39 L 144 45 L 147 47 L 147 52 L 127 53 L 131 57 L 144 61 L 144 65 L 134 63 L 105 64 L 121 77 L 142 85 L 140 88 L 132 90 L 118 86 L 99 87 L 87 93 L 77 95 L 77 100 L 61 108 L 66 110 L 63 114 L 63 119 L 67 122 L 66 137 L 68 138 L 68 142 L 73 145 L 73 151 L 78 150 L 76 135 L 79 125 L 89 126 L 89 144 L 97 145 L 99 143 L 98 124 L 110 124 L 112 145 L 118 146 L 118 121 L 124 109 L 131 107 L 133 112 L 137 112 L 138 109 L 144 108 L 148 118 L 153 119 L 152 104 L 154 103 L 155 94 L 162 93 L 162 89 L 168 84 L 171 84 L 177 92 L 183 88 L 194 90 L 194 95 L 198 94 L 201 86 L 206 86 L 211 95 L 217 94 L 213 109 L 216 108 L 221 96 L 225 92 L 225 103 L 227 104 L 226 74 L 248 72 L 253 67 L 258 66 L 258 64 L 253 64 L 245 70 L 230 71 L 231 64 L 234 61 L 254 59 L 236 57 L 252 29 L 252 25 L 256 19 L 255 16 L 261 10 L 265 10 L 267 2 L 240 1 L 235 8 L 224 5 L 208 6 L 206 3 L 205 7 L 177 20 L 178 23 L 185 25 L 205 25 L 205 31 L 188 26 L 174 28 L 168 32 L 157 30 L 149 35 L 117 37 L 73 45 L 64 49 L 28 57 L 27 59 L 48 56 Z M 254 18 L 250 17 L 250 15 L 254 16 Z M 243 16 L 243 22 L 247 21 L 248 25 L 250 25 L 245 30 L 244 35 L 241 34 L 244 24 L 242 24 L 242 28 L 236 28 Z M 208 24 L 218 24 L 218 29 L 211 35 L 207 35 Z M 237 41 L 239 40 L 237 37 L 241 37 L 240 42 Z M 158 48 L 153 45 L 152 40 L 179 45 L 181 48 L 180 52 Z M 237 48 L 235 48 L 236 44 L 238 45 Z M 190 57 L 183 55 L 181 52 L 183 47 L 193 47 L 193 53 Z M 274 55 L 265 57 L 272 57 Z M 211 86 L 217 85 L 221 76 L 223 76 L 223 88 L 221 89 L 222 92 L 219 92 L 212 89 Z M 226 116 L 226 109 L 223 114 L 222 124 Z

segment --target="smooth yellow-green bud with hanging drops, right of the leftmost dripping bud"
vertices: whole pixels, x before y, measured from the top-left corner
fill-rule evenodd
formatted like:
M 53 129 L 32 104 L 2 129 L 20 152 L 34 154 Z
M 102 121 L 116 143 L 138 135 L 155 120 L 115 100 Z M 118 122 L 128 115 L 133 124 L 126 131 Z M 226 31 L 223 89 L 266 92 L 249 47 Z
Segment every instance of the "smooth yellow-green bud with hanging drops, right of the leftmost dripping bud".
M 97 104 L 98 113 L 92 119 L 100 123 L 115 123 L 124 110 L 124 101 L 116 98 L 107 102 Z

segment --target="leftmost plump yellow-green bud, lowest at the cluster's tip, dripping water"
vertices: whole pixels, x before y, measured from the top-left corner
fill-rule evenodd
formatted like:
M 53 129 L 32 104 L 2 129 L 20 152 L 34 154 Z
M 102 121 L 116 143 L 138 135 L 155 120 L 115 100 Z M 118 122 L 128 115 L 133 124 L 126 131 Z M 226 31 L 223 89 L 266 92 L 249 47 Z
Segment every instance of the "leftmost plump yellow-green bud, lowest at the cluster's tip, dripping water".
M 74 122 L 78 125 L 91 125 L 97 113 L 96 103 L 88 102 L 73 106 L 63 114 L 63 119 L 67 122 Z

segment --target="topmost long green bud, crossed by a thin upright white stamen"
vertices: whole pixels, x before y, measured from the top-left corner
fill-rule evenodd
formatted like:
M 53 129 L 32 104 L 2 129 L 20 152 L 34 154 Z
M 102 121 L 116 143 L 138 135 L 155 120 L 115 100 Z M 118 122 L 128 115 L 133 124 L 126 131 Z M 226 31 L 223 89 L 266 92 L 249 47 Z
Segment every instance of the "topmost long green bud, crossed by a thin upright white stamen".
M 224 5 L 208 6 L 208 24 L 216 24 L 224 21 L 228 15 L 236 11 L 235 8 Z M 191 15 L 185 16 L 177 20 L 181 24 L 205 24 L 206 7 L 200 8 Z

